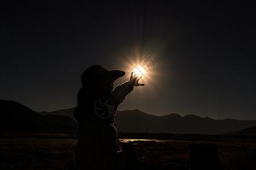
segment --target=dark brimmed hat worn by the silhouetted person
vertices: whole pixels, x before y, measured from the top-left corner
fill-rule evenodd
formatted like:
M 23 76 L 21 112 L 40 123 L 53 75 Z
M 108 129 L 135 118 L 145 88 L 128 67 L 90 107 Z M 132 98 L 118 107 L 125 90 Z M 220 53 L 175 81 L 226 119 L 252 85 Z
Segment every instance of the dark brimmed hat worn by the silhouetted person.
M 82 73 L 82 87 L 98 88 L 98 90 L 109 90 L 110 88 L 113 88 L 114 81 L 123 75 L 125 75 L 125 71 L 108 71 L 100 65 L 94 65 Z

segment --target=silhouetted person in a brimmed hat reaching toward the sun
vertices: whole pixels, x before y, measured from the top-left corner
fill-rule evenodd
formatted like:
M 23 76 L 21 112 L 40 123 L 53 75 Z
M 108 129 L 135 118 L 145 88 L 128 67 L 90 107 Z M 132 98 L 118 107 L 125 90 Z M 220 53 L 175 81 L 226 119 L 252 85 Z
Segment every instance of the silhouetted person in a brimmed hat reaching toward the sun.
M 79 122 L 79 141 L 74 160 L 76 169 L 120 169 L 127 163 L 127 152 L 118 145 L 114 115 L 118 105 L 133 91 L 142 76 L 133 75 L 113 90 L 124 71 L 108 71 L 95 65 L 81 75 L 82 88 L 77 94 L 74 116 Z

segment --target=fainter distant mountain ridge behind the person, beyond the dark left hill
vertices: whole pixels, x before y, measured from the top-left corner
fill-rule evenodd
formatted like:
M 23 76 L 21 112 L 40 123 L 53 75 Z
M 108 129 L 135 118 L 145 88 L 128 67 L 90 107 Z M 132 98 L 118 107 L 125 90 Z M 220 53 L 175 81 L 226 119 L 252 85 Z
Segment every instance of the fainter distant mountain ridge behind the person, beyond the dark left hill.
M 75 108 L 56 111 L 59 115 L 72 117 Z M 53 114 L 56 112 L 51 112 Z M 214 120 L 209 117 L 199 117 L 193 114 L 181 117 L 179 114 L 171 113 L 166 116 L 154 116 L 139 110 L 118 111 L 115 122 L 118 131 L 123 132 L 164 132 L 164 133 L 193 133 L 193 134 L 222 134 L 227 131 L 238 131 L 256 125 L 256 121 Z

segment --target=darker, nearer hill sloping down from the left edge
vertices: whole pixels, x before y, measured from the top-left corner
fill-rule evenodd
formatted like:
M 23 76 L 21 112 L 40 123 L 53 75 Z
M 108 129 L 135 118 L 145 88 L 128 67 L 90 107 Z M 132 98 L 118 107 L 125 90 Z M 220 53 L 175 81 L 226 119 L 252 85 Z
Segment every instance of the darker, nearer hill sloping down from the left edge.
M 0 100 L 0 115 L 0 131 L 77 130 L 76 122 L 67 116 L 42 116 L 16 101 Z

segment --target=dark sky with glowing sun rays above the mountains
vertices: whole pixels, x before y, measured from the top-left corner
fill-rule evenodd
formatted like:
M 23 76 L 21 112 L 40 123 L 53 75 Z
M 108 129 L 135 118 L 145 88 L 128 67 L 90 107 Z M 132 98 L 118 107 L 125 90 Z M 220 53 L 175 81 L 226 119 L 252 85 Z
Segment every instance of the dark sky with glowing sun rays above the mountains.
M 253 4 L 10 1 L 0 11 L 1 99 L 75 107 L 86 68 L 128 74 L 151 52 L 160 66 L 119 110 L 256 120 Z

